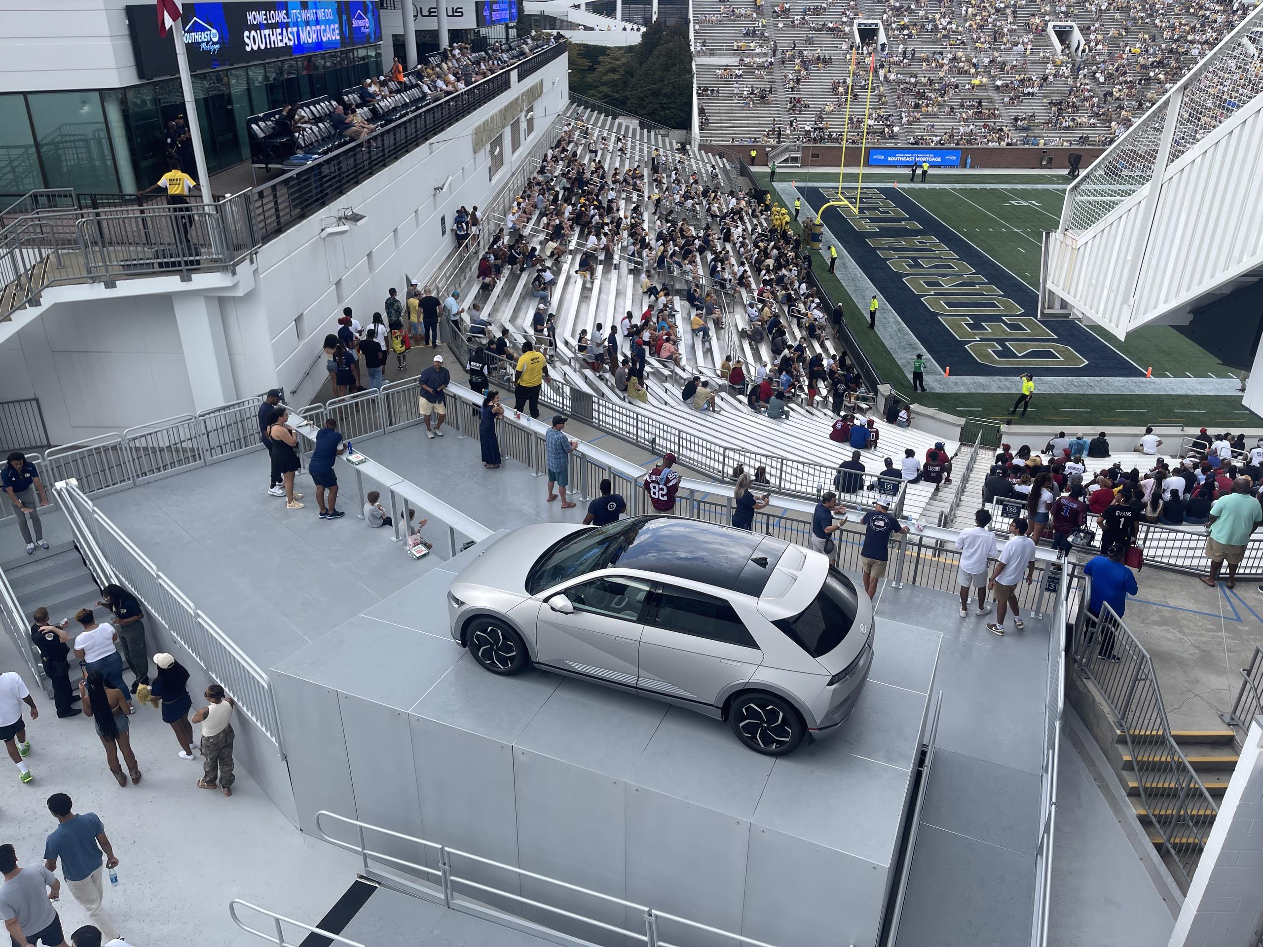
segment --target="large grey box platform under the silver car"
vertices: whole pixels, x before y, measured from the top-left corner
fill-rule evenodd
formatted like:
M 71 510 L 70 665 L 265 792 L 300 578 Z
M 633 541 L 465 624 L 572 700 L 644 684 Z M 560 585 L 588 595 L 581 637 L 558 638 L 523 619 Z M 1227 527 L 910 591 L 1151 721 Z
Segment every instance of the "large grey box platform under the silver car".
M 304 831 L 316 833 L 316 812 L 327 809 L 768 943 L 877 942 L 937 633 L 885 629 L 879 617 L 851 720 L 835 737 L 770 759 L 678 707 L 536 670 L 482 670 L 451 640 L 446 607 L 452 576 L 476 553 L 275 665 Z M 423 857 L 384 836 L 369 842 Z M 514 875 L 471 862 L 453 870 L 643 931 L 619 905 L 532 879 L 519 888 Z M 522 913 L 587 939 L 623 939 Z M 679 928 L 663 939 L 730 942 Z

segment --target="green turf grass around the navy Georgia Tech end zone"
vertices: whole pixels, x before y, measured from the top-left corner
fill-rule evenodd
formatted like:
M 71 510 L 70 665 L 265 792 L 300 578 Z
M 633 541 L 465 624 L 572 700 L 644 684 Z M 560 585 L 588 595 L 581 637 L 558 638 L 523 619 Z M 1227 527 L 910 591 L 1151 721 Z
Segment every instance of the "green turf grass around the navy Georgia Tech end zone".
M 836 172 L 834 172 L 836 176 Z M 933 172 L 931 172 L 933 174 Z M 991 176 L 1005 178 L 1012 176 Z M 760 187 L 768 187 L 768 174 L 755 172 Z M 784 181 L 782 174 L 777 174 Z M 834 181 L 837 178 L 834 177 Z M 868 179 L 868 173 L 865 173 Z M 970 177 L 970 183 L 975 179 Z M 978 181 L 976 183 L 989 183 Z M 904 188 L 901 187 L 901 191 Z M 1007 191 L 1003 186 L 985 189 L 951 191 L 947 188 L 909 187 L 907 193 L 961 236 L 988 254 L 1032 288 L 1039 283 L 1039 234 L 1056 226 L 1061 211 L 1061 194 L 1045 191 Z M 967 200 L 965 200 L 967 198 Z M 1023 201 L 1027 203 L 1012 203 Z M 777 203 L 783 203 L 777 201 Z M 801 232 L 797 222 L 791 226 Z M 1015 394 L 936 394 L 933 379 L 930 391 L 912 396 L 908 366 L 899 365 L 882 342 L 868 330 L 868 316 L 841 282 L 827 269 L 817 268 L 816 275 L 831 299 L 841 303 L 851 333 L 864 342 L 864 354 L 882 379 L 903 398 L 938 410 L 974 418 L 1007 418 Z M 1154 375 L 1164 378 L 1191 372 L 1196 378 L 1236 378 L 1210 352 L 1201 348 L 1170 326 L 1149 326 L 1128 333 L 1119 341 L 1104 330 L 1091 327 L 1098 335 L 1142 367 L 1153 366 Z M 1166 367 L 1163 367 L 1166 366 Z M 1173 366 L 1178 366 L 1178 374 Z M 1240 398 L 1230 395 L 1062 395 L 1037 391 L 1026 423 L 1081 426 L 1085 431 L 1146 423 L 1183 424 L 1185 427 L 1263 427 L 1263 418 L 1242 407 Z

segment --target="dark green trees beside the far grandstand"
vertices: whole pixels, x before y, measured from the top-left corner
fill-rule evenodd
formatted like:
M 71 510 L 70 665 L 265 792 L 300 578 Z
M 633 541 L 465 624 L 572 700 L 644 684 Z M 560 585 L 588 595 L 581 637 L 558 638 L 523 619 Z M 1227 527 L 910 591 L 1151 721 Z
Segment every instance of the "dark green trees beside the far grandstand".
M 687 19 L 647 27 L 633 47 L 572 44 L 570 68 L 572 92 L 667 128 L 688 128 L 693 58 Z

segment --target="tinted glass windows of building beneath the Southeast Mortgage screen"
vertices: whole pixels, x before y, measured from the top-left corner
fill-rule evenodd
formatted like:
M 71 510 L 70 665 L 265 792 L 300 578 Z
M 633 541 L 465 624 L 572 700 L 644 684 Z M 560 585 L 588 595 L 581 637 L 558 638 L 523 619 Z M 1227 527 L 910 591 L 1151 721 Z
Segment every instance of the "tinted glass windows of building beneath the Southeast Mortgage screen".
M 246 119 L 380 76 L 380 44 L 193 74 L 206 164 L 249 160 Z M 184 112 L 179 80 L 83 92 L 0 95 L 0 194 L 44 187 L 134 192 L 169 168 L 163 135 Z

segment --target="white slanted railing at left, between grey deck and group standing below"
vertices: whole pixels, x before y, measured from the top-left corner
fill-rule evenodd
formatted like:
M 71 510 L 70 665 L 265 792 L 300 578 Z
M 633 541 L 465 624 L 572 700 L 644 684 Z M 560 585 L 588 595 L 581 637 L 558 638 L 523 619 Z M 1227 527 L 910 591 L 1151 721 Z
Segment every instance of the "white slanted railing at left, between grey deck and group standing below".
M 53 492 L 67 511 L 80 548 L 93 545 L 100 551 L 109 580 L 135 595 L 145 614 L 160 622 L 172 639 L 224 686 L 237 710 L 280 751 L 280 718 L 264 670 L 158 571 L 149 557 L 83 495 L 73 479 L 57 481 Z

